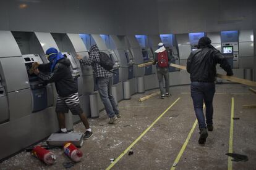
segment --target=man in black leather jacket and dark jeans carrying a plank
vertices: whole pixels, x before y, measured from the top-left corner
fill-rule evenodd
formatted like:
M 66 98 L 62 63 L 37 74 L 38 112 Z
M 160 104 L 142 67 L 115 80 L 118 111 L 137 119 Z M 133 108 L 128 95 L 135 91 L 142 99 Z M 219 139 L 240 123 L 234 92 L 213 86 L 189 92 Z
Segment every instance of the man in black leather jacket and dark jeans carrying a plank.
M 198 41 L 198 49 L 192 51 L 187 59 L 187 72 L 190 73 L 191 97 L 194 103 L 195 115 L 197 116 L 200 137 L 199 144 L 204 144 L 208 131 L 213 131 L 213 96 L 215 94 L 216 65 L 220 64 L 228 76 L 233 76 L 233 71 L 228 60 L 211 46 L 208 37 L 202 37 Z M 203 102 L 206 106 L 206 123 L 203 115 Z

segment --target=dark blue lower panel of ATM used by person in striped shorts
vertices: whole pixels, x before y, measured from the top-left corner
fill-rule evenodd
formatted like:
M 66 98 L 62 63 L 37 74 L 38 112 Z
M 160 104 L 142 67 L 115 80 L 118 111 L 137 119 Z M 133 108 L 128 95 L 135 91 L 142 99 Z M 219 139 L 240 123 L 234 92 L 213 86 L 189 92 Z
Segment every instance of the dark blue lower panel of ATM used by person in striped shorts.
M 32 89 L 33 95 L 33 112 L 47 108 L 47 90 L 46 87 L 41 89 Z

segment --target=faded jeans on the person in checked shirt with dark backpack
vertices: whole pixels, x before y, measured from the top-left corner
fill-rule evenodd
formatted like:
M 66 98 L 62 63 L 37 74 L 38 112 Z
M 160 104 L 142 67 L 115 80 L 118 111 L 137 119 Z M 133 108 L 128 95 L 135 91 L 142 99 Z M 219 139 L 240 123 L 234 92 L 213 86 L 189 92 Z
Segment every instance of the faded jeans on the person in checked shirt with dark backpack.
M 96 78 L 96 84 L 106 113 L 108 113 L 109 118 L 112 118 L 115 114 L 119 113 L 116 101 L 112 95 L 112 78 Z

